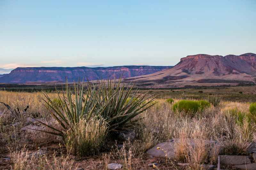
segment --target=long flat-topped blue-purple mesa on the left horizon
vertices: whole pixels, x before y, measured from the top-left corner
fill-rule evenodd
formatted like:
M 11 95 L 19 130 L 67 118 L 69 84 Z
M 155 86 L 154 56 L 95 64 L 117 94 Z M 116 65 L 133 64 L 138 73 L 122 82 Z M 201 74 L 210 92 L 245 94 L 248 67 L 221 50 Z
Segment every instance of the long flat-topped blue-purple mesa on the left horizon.
M 119 78 L 122 74 L 124 78 L 141 76 L 169 69 L 172 66 L 117 66 L 117 67 L 31 67 L 17 68 L 10 74 L 0 78 L 1 83 L 26 83 L 26 82 L 64 82 L 67 78 L 69 82 L 78 78 L 89 80 Z

